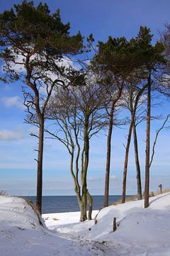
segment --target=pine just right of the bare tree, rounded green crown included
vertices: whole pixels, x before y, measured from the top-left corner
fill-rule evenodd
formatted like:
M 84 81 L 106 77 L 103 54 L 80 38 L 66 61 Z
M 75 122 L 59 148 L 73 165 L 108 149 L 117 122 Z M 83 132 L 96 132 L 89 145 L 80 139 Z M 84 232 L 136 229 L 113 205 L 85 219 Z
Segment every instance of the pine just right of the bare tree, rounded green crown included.
M 106 179 L 104 206 L 108 206 L 109 176 L 111 165 L 111 137 L 115 107 L 125 88 L 125 82 L 130 74 L 141 66 L 137 59 L 138 49 L 136 41 L 132 38 L 127 41 L 122 38 L 108 38 L 106 43 L 98 43 L 98 53 L 94 58 L 94 64 L 106 77 L 104 84 L 111 87 L 111 102 L 109 105 L 109 124 L 106 154 Z

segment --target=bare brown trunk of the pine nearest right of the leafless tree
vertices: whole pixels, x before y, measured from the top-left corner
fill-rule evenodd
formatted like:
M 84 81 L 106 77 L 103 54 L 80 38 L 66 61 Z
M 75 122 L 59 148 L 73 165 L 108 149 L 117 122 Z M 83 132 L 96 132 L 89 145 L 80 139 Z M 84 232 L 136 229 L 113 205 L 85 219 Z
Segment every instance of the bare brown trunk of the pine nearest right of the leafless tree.
M 110 114 L 109 126 L 108 126 L 104 207 L 108 206 L 109 177 L 110 177 L 110 169 L 111 169 L 111 137 L 112 137 L 112 130 L 113 130 L 114 107 L 115 107 L 115 104 L 113 102 L 111 105 L 111 114 Z

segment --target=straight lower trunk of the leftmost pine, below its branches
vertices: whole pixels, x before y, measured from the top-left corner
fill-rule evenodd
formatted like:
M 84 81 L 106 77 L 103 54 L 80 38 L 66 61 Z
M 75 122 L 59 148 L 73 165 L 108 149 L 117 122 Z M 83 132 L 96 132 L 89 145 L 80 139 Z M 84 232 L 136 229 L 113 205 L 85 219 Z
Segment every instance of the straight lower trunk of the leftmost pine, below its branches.
M 37 170 L 37 198 L 36 206 L 40 214 L 42 213 L 42 159 L 44 146 L 44 118 L 39 119 L 39 138 L 38 138 L 38 170 Z

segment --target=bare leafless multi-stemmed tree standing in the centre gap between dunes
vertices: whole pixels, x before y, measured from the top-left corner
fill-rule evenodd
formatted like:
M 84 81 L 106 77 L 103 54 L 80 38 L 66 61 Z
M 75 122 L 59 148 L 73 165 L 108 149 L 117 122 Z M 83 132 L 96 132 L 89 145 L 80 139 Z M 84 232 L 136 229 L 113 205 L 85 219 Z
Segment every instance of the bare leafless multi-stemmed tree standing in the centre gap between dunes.
M 70 154 L 70 171 L 81 211 L 80 221 L 87 219 L 87 201 L 91 218 L 93 200 L 87 189 L 86 177 L 90 139 L 106 125 L 103 95 L 99 85 L 89 82 L 86 82 L 86 85 L 68 87 L 67 90 L 57 90 L 56 95 L 50 100 L 47 112 L 50 119 L 56 120 L 57 130 L 51 132 L 50 125 L 45 131 L 62 142 Z

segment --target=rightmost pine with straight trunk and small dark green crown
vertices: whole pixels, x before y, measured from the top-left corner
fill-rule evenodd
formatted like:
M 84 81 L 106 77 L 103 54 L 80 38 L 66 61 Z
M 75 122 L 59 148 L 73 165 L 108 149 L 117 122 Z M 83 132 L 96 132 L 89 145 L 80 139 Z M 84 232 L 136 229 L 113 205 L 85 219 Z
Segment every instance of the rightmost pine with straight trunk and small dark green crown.
M 142 60 L 147 80 L 147 129 L 146 129 L 146 149 L 145 149 L 145 208 L 149 206 L 149 163 L 150 163 L 150 119 L 151 119 L 151 90 L 154 73 L 157 73 L 159 65 L 165 63 L 163 52 L 164 46 L 157 42 L 152 46 L 152 34 L 150 29 L 140 27 L 137 35 L 137 48 L 139 50 L 138 59 Z

